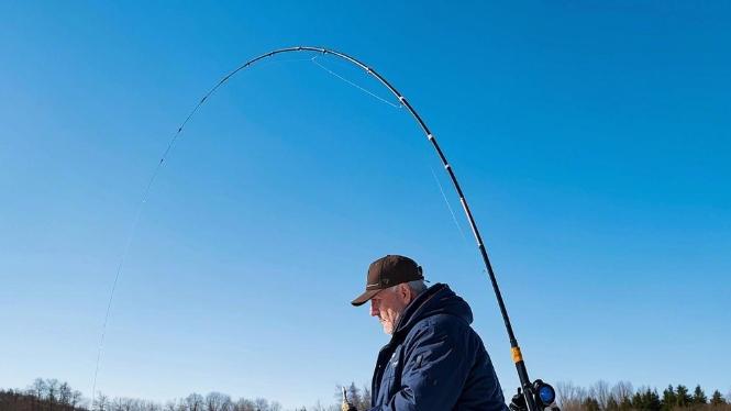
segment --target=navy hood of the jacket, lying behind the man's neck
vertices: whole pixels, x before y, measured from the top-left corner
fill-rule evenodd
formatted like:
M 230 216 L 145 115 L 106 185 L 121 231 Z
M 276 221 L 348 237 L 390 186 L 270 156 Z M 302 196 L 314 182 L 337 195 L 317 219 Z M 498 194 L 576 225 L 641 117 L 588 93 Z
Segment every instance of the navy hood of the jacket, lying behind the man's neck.
M 408 332 L 417 322 L 436 314 L 454 315 L 467 324 L 473 322 L 469 304 L 462 297 L 454 293 L 450 286 L 438 282 L 407 306 L 401 319 L 399 319 L 394 336 Z

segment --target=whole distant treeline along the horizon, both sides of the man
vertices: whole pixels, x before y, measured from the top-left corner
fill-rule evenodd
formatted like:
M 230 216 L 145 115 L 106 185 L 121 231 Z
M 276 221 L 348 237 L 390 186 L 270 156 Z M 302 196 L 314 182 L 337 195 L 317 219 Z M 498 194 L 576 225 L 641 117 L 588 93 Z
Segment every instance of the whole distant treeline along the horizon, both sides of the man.
M 723 397 L 715 390 L 710 397 L 696 386 L 667 386 L 662 392 L 649 387 L 634 389 L 632 384 L 619 381 L 614 385 L 599 380 L 584 388 L 572 382 L 556 386 L 558 406 L 563 411 L 731 411 L 731 392 Z M 332 403 L 320 402 L 289 411 L 339 411 L 343 386 L 335 387 Z M 347 399 L 364 411 L 370 407 L 370 390 L 355 384 L 345 386 Z M 187 397 L 159 403 L 134 398 L 109 398 L 97 393 L 93 401 L 67 382 L 57 379 L 35 379 L 25 389 L 0 390 L 0 411 L 285 411 L 277 401 L 265 398 L 233 399 L 222 392 L 204 396 L 191 393 Z

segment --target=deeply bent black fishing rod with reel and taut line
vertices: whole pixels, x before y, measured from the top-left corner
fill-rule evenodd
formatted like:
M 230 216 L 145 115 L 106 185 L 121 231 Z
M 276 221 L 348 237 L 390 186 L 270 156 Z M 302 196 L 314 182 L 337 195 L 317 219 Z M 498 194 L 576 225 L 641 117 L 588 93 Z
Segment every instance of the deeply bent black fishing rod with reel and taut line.
M 525 368 L 525 362 L 523 359 L 523 356 L 520 351 L 520 346 L 518 345 L 518 340 L 516 338 L 516 335 L 512 331 L 512 325 L 510 323 L 510 318 L 508 316 L 508 310 L 506 309 L 505 301 L 502 300 L 502 295 L 500 293 L 500 288 L 498 287 L 498 281 L 495 276 L 495 271 L 492 269 L 492 265 L 490 264 L 490 259 L 487 255 L 487 248 L 485 247 L 485 243 L 483 242 L 483 236 L 479 233 L 479 230 L 477 229 L 477 223 L 475 222 L 475 218 L 472 213 L 472 210 L 469 209 L 469 206 L 467 204 L 467 200 L 465 198 L 464 192 L 462 191 L 462 187 L 459 186 L 459 182 L 457 181 L 457 177 L 454 174 L 454 169 L 450 165 L 450 163 L 446 159 L 446 156 L 444 155 L 444 152 L 440 147 L 439 143 L 436 142 L 436 137 L 434 134 L 429 130 L 427 126 L 427 123 L 422 120 L 421 115 L 417 112 L 417 110 L 411 105 L 411 103 L 401 95 L 391 84 L 386 80 L 381 75 L 379 75 L 375 69 L 373 69 L 370 66 L 365 65 L 361 60 L 358 60 L 355 57 L 352 57 L 345 53 L 336 52 L 333 49 L 329 48 L 323 48 L 323 47 L 312 47 L 312 46 L 296 46 L 296 47 L 286 47 L 286 48 L 278 48 L 265 54 L 262 54 L 257 57 L 254 57 L 250 59 L 248 62 L 242 64 L 228 75 L 225 75 L 213 88 L 211 88 L 198 102 L 198 104 L 190 111 L 186 120 L 180 124 L 180 126 L 177 129 L 175 134 L 173 135 L 173 138 L 168 143 L 167 148 L 163 153 L 163 156 L 160 157 L 160 160 L 157 165 L 157 168 L 155 169 L 155 173 L 153 174 L 151 180 L 147 184 L 147 188 L 143 195 L 143 203 L 146 202 L 146 198 L 149 193 L 149 189 L 153 185 L 153 181 L 155 180 L 157 174 L 159 173 L 159 169 L 162 168 L 167 155 L 169 154 L 170 149 L 173 148 L 175 142 L 179 137 L 180 133 L 182 133 L 182 130 L 185 126 L 188 124 L 190 119 L 196 114 L 196 112 L 200 109 L 200 107 L 208 100 L 211 95 L 213 95 L 221 86 L 223 86 L 231 77 L 236 75 L 239 71 L 248 68 L 253 64 L 261 62 L 263 59 L 279 55 L 279 54 L 286 54 L 286 53 L 299 53 L 299 52 L 310 52 L 310 53 L 318 53 L 322 55 L 330 55 L 334 56 L 337 58 L 341 58 L 345 62 L 348 62 L 361 69 L 365 70 L 368 75 L 373 76 L 376 80 L 378 80 L 383 86 L 385 86 L 399 101 L 399 103 L 402 107 L 406 107 L 411 116 L 417 121 L 421 130 L 424 132 L 427 135 L 427 138 L 429 142 L 432 144 L 432 147 L 436 151 L 436 154 L 442 162 L 442 165 L 444 166 L 444 169 L 450 176 L 450 180 L 452 181 L 452 185 L 454 186 L 454 189 L 457 192 L 457 196 L 459 197 L 459 203 L 462 204 L 462 209 L 467 218 L 467 222 L 469 223 L 469 227 L 472 229 L 473 235 L 475 237 L 475 241 L 477 242 L 477 247 L 479 249 L 480 256 L 483 257 L 483 262 L 485 263 L 485 268 L 487 270 L 487 275 L 490 279 L 490 282 L 492 284 L 492 290 L 495 291 L 495 297 L 497 298 L 498 301 L 498 307 L 500 309 L 500 314 L 502 315 L 502 321 L 505 322 L 506 330 L 508 332 L 508 337 L 510 340 L 510 351 L 511 351 L 511 356 L 512 360 L 516 364 L 516 369 L 518 371 L 518 378 L 520 379 L 520 386 L 521 388 L 518 389 L 518 395 L 513 398 L 513 402 L 516 402 L 517 398 L 520 400 L 519 402 L 521 408 L 528 409 L 528 411 L 541 411 L 545 409 L 546 407 L 550 407 L 554 403 L 555 401 L 555 390 L 553 387 L 550 385 L 543 382 L 542 380 L 538 379 L 535 381 L 530 380 L 528 376 L 528 369 Z M 137 219 L 140 215 L 140 210 L 137 212 Z M 136 221 L 135 221 L 136 225 Z M 134 230 L 133 230 L 134 231 Z M 128 247 L 129 248 L 129 247 Z M 122 258 L 122 262 L 124 258 Z M 107 318 L 104 319 L 104 325 L 103 327 L 106 329 L 107 324 L 107 319 L 109 316 L 109 310 L 111 307 L 111 300 L 114 293 L 114 288 L 117 286 L 117 280 L 119 278 L 120 271 L 121 271 L 121 266 L 122 263 L 120 263 L 120 266 L 117 269 L 117 277 L 114 278 L 114 287 L 112 287 L 112 296 L 110 296 L 109 304 L 107 307 Z M 102 332 L 102 337 L 101 337 L 101 343 L 100 343 L 100 348 L 99 348 L 99 354 L 97 356 L 97 371 L 99 369 L 99 357 L 101 355 L 101 346 L 103 345 L 103 332 Z M 96 388 L 96 373 L 95 373 L 95 381 L 93 386 Z M 95 388 L 92 388 L 92 400 L 93 400 L 93 391 Z M 521 395 L 521 389 L 522 389 L 522 395 Z M 522 398 L 521 398 L 522 397 Z M 524 400 L 524 404 L 522 403 Z M 511 404 L 512 408 L 512 404 Z

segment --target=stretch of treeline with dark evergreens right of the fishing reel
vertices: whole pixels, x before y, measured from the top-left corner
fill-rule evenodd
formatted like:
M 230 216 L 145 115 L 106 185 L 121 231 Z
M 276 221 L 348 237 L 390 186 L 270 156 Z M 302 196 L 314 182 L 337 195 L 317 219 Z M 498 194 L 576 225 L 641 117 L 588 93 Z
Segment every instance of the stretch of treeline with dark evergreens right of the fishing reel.
M 563 411 L 731 410 L 731 393 L 724 398 L 719 390 L 715 390 L 709 398 L 700 386 L 696 386 L 690 392 L 684 385 L 669 385 L 661 393 L 650 387 L 635 390 L 632 384 L 627 381 L 610 386 L 609 382 L 599 380 L 588 389 L 572 382 L 558 382 L 556 397 Z

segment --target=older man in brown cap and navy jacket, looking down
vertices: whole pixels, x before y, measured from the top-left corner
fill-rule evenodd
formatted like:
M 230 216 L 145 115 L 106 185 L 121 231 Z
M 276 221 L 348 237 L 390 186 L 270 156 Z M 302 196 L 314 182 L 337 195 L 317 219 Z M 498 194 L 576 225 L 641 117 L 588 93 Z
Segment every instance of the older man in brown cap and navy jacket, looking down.
M 448 286 L 427 288 L 408 257 L 387 255 L 368 268 L 366 289 L 353 306 L 370 301 L 391 340 L 373 376 L 373 411 L 506 411 L 500 382 L 483 341 L 469 326 L 469 306 Z M 347 402 L 343 410 L 355 410 Z

